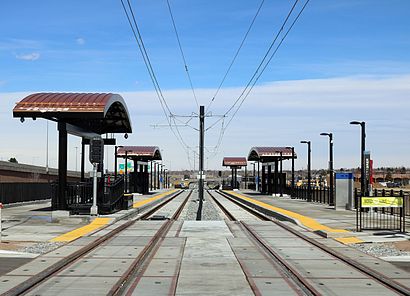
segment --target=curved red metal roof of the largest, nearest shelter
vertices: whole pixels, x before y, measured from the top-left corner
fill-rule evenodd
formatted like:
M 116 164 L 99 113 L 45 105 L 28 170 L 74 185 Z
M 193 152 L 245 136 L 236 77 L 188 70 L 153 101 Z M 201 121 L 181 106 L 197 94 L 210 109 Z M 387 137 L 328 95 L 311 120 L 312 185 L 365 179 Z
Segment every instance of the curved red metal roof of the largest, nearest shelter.
M 112 93 L 35 93 L 16 104 L 13 116 L 66 122 L 97 134 L 132 132 L 124 99 Z

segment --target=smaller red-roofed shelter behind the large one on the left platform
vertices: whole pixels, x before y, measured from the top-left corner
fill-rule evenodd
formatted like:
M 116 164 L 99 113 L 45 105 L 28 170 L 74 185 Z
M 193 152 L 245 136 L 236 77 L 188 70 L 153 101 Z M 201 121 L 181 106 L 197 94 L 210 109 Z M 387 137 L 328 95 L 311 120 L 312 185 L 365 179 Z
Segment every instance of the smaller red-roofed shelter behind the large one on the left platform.
M 164 176 L 162 166 L 160 170 L 160 164 L 154 162 L 162 160 L 158 147 L 118 146 L 115 155 L 116 163 L 117 158 L 123 158 L 125 160 L 124 175 L 127 180 L 129 179 L 129 182 L 126 182 L 127 192 L 147 194 L 149 193 L 150 187 L 157 188 L 157 184 L 163 183 Z M 132 172 L 128 172 L 128 160 L 134 163 L 134 170 Z M 150 172 L 148 171 L 149 163 Z M 115 169 L 117 170 L 117 168 Z

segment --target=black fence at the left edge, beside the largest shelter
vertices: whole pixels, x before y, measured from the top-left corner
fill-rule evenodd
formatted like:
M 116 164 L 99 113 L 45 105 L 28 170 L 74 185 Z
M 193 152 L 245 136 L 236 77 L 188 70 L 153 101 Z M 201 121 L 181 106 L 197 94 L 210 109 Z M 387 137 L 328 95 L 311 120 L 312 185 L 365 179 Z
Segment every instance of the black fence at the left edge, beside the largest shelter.
M 12 204 L 51 198 L 49 183 L 0 183 L 0 202 Z

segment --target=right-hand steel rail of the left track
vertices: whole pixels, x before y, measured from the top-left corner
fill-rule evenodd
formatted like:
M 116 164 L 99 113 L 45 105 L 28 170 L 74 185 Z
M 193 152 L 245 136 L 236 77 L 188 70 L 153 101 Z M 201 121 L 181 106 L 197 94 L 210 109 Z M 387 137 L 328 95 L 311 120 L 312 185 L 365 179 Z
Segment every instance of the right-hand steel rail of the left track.
M 184 191 L 181 191 L 184 192 Z M 108 296 L 114 295 L 131 295 L 135 287 L 137 286 L 142 273 L 148 267 L 149 262 L 153 258 L 155 252 L 159 249 L 162 241 L 164 240 L 166 234 L 171 229 L 175 220 L 178 219 L 182 210 L 184 209 L 189 197 L 192 194 L 192 190 L 189 192 L 187 197 L 172 215 L 170 220 L 167 220 L 155 233 L 155 235 L 150 239 L 148 244 L 144 247 L 141 253 L 135 258 L 131 263 L 131 266 L 127 271 L 121 276 L 121 278 L 114 284 L 111 290 L 107 293 Z

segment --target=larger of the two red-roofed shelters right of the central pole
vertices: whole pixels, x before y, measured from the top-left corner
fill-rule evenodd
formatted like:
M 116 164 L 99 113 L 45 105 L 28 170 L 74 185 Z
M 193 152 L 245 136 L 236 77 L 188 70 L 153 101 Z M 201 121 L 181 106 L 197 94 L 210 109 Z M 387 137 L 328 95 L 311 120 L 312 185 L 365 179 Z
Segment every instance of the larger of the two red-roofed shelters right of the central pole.
M 286 184 L 286 174 L 282 170 L 282 161 L 296 158 L 297 155 L 292 147 L 252 147 L 248 161 L 258 163 L 259 191 L 269 195 L 282 194 Z

